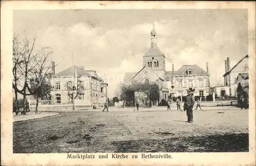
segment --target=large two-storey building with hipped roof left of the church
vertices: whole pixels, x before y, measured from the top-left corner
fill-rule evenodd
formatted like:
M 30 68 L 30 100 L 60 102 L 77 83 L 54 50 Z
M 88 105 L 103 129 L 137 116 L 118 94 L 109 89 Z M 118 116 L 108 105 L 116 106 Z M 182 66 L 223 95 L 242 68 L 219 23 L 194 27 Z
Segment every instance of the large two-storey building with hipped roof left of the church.
M 75 105 L 99 107 L 107 101 L 108 84 L 97 75 L 96 70 L 84 70 L 83 66 L 71 66 L 57 74 L 55 69 L 52 70 L 52 104 L 73 104 L 69 94 L 74 92 L 76 96 L 78 90 L 80 92 L 74 100 Z M 72 90 L 73 86 L 75 90 Z

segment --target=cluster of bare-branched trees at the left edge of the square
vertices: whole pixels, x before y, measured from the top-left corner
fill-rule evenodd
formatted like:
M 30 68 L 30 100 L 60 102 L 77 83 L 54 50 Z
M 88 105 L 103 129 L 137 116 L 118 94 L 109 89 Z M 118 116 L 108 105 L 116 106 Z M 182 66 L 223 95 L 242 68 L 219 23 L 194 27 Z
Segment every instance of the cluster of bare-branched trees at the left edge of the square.
M 51 100 L 51 55 L 50 48 L 36 49 L 36 36 L 29 39 L 13 35 L 13 82 L 15 106 L 18 110 L 18 93 L 23 95 L 23 113 L 26 114 L 27 96 L 36 99 L 36 113 L 38 100 Z

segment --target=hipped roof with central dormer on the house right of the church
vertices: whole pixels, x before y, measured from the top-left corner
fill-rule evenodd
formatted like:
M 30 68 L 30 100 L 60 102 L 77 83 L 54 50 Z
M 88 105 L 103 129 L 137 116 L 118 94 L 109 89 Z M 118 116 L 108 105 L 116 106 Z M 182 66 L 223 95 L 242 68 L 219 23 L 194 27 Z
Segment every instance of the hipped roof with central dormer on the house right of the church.
M 187 75 L 187 69 L 191 68 L 193 71 L 193 75 L 207 75 L 207 73 L 205 72 L 205 70 L 203 70 L 201 67 L 199 67 L 197 64 L 193 64 L 193 65 L 183 65 L 181 66 L 180 69 L 178 69 L 175 72 L 175 76 L 180 76 L 180 75 Z

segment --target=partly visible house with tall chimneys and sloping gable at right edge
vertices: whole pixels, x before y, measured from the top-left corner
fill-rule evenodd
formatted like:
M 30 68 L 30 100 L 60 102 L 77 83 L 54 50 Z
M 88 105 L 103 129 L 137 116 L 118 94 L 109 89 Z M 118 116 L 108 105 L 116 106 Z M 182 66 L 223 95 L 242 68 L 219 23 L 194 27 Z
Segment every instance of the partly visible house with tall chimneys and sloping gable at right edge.
M 239 74 L 248 75 L 248 58 L 249 56 L 246 55 L 232 68 L 230 67 L 230 58 L 228 57 L 227 60 L 225 60 L 225 74 L 223 75 L 224 86 L 229 87 L 229 92 L 226 91 L 226 94 L 229 94 L 230 97 L 237 97 L 237 80 Z

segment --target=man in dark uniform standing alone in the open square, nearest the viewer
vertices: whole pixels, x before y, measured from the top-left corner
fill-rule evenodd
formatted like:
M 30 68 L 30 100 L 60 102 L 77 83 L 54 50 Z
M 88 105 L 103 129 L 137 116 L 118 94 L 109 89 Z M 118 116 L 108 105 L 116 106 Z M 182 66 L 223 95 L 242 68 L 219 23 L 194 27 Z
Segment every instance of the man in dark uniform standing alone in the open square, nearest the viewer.
M 193 123 L 193 106 L 195 104 L 195 98 L 191 94 L 190 90 L 187 90 L 187 96 L 184 103 L 184 110 L 187 112 L 187 122 Z

